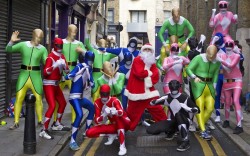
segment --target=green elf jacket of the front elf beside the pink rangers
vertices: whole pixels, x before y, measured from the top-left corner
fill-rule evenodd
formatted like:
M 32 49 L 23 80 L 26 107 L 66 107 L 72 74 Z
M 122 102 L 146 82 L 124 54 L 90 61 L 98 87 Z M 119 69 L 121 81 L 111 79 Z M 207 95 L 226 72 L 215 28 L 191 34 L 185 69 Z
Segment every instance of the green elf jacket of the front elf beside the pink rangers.
M 215 98 L 215 86 L 218 80 L 218 74 L 220 70 L 221 63 L 218 61 L 209 62 L 206 58 L 206 54 L 200 54 L 193 58 L 189 63 L 186 72 L 189 77 L 194 78 L 194 76 L 200 76 L 203 78 L 212 78 L 211 82 L 194 82 L 194 79 L 191 79 L 192 93 L 195 99 L 198 99 L 206 84 L 209 87 L 209 90 Z

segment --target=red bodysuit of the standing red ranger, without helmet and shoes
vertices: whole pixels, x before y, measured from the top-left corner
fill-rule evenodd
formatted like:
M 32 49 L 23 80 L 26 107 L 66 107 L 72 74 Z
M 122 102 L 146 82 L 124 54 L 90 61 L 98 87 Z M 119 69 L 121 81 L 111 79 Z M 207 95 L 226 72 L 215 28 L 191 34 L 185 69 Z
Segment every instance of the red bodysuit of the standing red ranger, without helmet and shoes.
M 50 118 L 52 117 L 56 107 L 56 102 L 59 105 L 57 122 L 61 123 L 62 114 L 66 106 L 66 100 L 59 87 L 59 82 L 63 70 L 66 73 L 69 72 L 68 65 L 65 62 L 66 60 L 64 55 L 56 51 L 52 51 L 46 59 L 43 71 L 43 90 L 49 107 L 45 114 L 44 130 L 48 129 Z

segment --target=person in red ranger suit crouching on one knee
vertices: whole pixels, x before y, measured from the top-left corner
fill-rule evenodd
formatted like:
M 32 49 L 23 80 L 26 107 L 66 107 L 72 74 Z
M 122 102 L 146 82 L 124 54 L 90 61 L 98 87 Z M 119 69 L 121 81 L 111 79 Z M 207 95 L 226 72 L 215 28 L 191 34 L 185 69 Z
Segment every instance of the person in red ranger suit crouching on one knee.
M 111 145 L 118 135 L 120 151 L 118 155 L 125 155 L 125 131 L 129 129 L 130 119 L 123 110 L 121 102 L 116 97 L 110 96 L 110 86 L 103 84 L 100 87 L 101 97 L 95 101 L 95 123 L 97 126 L 86 131 L 89 138 L 99 137 L 100 134 L 108 134 L 108 141 L 105 145 Z M 109 119 L 110 124 L 105 124 Z

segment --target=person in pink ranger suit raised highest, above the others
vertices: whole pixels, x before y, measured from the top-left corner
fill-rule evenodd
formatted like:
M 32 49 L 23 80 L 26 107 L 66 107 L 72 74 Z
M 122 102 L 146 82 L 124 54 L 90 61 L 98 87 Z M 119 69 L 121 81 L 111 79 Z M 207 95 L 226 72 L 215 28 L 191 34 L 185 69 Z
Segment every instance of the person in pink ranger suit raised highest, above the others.
M 209 26 L 214 28 L 213 36 L 220 32 L 224 35 L 224 40 L 232 40 L 229 33 L 229 28 L 231 23 L 236 23 L 238 19 L 238 15 L 234 14 L 231 11 L 227 11 L 228 9 L 228 2 L 227 1 L 220 1 L 218 3 L 218 7 L 220 12 L 215 15 L 216 9 L 212 9 L 212 16 L 209 21 Z

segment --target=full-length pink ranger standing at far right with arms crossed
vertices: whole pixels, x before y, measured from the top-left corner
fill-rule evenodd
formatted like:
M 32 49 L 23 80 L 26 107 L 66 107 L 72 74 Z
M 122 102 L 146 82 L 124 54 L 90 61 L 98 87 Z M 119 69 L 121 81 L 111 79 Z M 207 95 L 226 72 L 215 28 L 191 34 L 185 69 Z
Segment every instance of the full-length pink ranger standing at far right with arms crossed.
M 242 74 L 239 68 L 240 55 L 234 53 L 234 41 L 225 42 L 226 54 L 217 55 L 216 59 L 221 62 L 224 74 L 223 89 L 225 94 L 225 121 L 222 127 L 229 127 L 230 105 L 234 103 L 237 126 L 234 134 L 243 132 L 242 111 L 240 106 L 240 94 L 242 90 Z M 231 98 L 232 97 L 232 98 Z

